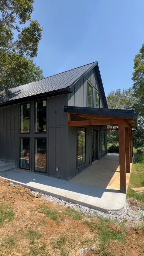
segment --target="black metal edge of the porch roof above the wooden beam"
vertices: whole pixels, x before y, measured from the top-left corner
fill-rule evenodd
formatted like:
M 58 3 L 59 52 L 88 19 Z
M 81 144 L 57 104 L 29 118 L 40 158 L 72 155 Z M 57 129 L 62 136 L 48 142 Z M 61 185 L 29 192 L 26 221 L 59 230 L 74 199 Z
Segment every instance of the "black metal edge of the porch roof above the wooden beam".
M 64 112 L 87 114 L 87 115 L 123 117 L 126 119 L 133 119 L 133 121 L 135 123 L 135 127 L 137 128 L 137 126 L 138 126 L 139 113 L 135 112 L 135 110 L 64 106 Z

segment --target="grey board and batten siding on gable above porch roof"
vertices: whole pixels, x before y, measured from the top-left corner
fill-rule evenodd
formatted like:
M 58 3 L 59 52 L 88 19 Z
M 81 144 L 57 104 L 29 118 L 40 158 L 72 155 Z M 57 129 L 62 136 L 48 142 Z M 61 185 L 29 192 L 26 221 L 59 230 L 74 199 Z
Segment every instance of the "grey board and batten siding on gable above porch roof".
M 101 97 L 98 79 L 93 68 L 83 78 L 77 81 L 73 86 L 73 92 L 68 94 L 68 106 L 87 107 L 87 83 L 93 87 L 94 93 L 94 107 L 95 107 L 95 91 L 100 95 L 100 108 L 104 108 L 103 100 Z

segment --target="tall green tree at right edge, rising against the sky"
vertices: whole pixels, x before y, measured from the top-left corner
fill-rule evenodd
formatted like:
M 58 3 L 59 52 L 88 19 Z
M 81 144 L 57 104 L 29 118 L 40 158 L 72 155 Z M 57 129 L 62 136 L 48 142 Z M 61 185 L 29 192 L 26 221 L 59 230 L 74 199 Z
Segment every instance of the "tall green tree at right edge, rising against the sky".
M 132 76 L 133 93 L 137 102 L 135 108 L 144 116 L 144 44 L 142 44 L 139 54 L 134 58 L 134 72 Z

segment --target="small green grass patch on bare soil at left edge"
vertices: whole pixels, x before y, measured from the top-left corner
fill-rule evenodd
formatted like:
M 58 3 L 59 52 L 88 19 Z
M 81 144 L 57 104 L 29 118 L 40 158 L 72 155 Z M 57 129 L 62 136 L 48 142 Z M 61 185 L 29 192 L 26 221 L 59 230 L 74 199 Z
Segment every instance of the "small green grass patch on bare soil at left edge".
M 12 208 L 8 205 L 0 205 L 0 225 L 4 223 L 5 220 L 12 221 L 14 219 L 15 213 Z

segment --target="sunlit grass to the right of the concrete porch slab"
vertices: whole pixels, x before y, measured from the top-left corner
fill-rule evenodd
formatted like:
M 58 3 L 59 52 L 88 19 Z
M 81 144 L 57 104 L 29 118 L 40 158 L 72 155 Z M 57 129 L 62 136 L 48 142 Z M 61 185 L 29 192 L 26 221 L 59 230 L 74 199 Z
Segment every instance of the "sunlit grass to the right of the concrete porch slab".
M 144 187 L 144 163 L 133 163 L 127 197 L 139 201 L 144 206 L 144 192 L 136 193 L 132 188 Z

